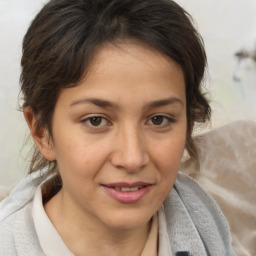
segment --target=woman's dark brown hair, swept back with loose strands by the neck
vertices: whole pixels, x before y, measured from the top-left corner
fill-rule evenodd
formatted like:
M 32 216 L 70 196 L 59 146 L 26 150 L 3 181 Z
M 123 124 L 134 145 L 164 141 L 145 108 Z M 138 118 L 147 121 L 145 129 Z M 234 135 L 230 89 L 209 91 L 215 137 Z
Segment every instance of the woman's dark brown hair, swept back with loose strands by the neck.
M 62 88 L 76 86 L 102 44 L 135 40 L 176 61 L 183 70 L 187 101 L 187 150 L 196 155 L 191 138 L 194 122 L 210 118 L 201 92 L 206 66 L 202 39 L 189 14 L 171 0 L 52 0 L 31 23 L 23 41 L 21 92 L 23 108 L 39 116 L 38 128 L 51 135 L 51 121 Z M 34 149 L 30 172 L 48 167 Z

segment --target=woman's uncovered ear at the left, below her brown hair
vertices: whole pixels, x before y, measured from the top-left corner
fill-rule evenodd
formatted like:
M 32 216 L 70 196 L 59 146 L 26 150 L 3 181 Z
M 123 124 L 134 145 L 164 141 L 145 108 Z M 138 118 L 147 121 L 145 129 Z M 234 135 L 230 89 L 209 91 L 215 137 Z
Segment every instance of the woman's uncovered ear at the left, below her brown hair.
M 49 131 L 46 128 L 38 127 L 38 118 L 33 113 L 31 107 L 26 107 L 24 109 L 24 117 L 38 150 L 47 160 L 56 160 L 53 142 Z

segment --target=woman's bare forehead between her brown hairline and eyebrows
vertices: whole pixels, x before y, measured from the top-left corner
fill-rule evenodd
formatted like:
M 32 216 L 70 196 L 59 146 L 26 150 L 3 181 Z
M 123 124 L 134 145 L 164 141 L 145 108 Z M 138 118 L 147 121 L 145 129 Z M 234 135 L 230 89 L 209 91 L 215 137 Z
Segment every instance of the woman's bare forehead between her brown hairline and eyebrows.
M 185 102 L 185 82 L 180 66 L 152 48 L 105 44 L 79 85 L 63 93 L 78 101 L 79 97 L 91 97 L 133 104 L 176 97 Z

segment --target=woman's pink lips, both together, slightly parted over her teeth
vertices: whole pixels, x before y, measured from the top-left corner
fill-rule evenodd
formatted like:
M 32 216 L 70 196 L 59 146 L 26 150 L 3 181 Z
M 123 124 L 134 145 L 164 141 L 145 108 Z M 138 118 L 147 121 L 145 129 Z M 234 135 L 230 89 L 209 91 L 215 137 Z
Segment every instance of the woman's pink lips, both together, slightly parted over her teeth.
M 140 201 L 150 191 L 152 185 L 145 182 L 120 182 L 102 186 L 112 199 L 120 203 L 132 204 Z

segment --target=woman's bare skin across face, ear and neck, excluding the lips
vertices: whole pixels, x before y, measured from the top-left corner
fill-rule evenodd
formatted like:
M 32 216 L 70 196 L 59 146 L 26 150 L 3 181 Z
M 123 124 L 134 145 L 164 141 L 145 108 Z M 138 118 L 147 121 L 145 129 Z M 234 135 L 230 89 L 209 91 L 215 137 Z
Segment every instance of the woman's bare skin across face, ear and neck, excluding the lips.
M 35 132 L 30 111 L 25 118 L 44 157 L 57 160 L 63 187 L 44 207 L 69 249 L 140 255 L 185 147 L 181 68 L 143 45 L 106 44 L 84 80 L 60 93 L 51 143 L 47 131 Z M 138 181 L 151 186 L 136 203 L 121 203 L 102 186 Z

